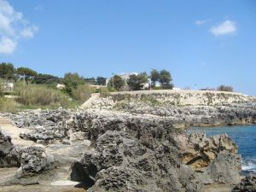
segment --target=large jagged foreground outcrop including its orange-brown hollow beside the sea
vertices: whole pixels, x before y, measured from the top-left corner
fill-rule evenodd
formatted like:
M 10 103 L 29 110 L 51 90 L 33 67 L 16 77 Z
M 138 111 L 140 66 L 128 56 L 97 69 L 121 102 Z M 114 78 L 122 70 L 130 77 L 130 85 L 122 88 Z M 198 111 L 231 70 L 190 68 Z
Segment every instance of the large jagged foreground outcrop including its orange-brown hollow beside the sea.
M 201 191 L 203 184 L 239 182 L 241 159 L 226 135 L 188 136 L 168 119 L 116 114 L 84 111 L 73 119 L 79 127 L 69 125 L 94 143 L 71 174 L 91 191 Z

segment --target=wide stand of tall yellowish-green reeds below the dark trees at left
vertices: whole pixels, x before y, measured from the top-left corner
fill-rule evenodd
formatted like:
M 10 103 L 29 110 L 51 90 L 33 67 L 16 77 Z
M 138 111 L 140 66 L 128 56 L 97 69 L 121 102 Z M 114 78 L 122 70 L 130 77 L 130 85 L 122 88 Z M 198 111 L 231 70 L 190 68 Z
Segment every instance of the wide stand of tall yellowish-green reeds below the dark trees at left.
M 43 84 L 15 84 L 15 94 L 18 96 L 16 101 L 24 105 L 52 105 L 67 108 L 71 100 L 61 90 Z

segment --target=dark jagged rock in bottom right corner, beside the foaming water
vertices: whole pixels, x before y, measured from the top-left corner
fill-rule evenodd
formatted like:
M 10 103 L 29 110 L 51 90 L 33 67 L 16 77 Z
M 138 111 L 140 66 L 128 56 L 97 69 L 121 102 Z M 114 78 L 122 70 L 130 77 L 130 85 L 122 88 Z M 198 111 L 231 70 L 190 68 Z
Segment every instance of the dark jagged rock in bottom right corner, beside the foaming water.
M 256 175 L 250 175 L 241 179 L 232 192 L 256 192 Z

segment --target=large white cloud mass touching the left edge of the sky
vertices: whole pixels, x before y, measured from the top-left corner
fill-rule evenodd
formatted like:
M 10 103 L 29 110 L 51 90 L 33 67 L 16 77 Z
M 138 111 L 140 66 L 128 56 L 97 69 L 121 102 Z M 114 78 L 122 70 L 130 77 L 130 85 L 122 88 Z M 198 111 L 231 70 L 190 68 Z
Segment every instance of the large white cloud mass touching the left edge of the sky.
M 22 13 L 0 0 L 0 54 L 11 54 L 20 38 L 33 38 L 38 26 L 30 24 Z

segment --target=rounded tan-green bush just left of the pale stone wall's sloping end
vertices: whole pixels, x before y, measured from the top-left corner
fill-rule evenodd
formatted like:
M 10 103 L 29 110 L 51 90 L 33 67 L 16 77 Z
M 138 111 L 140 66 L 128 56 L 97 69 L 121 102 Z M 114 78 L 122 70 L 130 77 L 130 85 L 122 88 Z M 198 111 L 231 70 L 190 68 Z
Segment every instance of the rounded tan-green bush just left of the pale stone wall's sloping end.
M 95 88 L 90 87 L 89 84 L 79 84 L 76 89 L 73 89 L 73 99 L 79 102 L 86 102 L 90 98 L 90 94 L 96 91 Z

